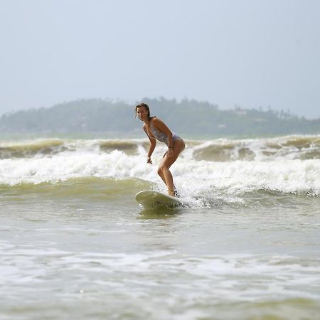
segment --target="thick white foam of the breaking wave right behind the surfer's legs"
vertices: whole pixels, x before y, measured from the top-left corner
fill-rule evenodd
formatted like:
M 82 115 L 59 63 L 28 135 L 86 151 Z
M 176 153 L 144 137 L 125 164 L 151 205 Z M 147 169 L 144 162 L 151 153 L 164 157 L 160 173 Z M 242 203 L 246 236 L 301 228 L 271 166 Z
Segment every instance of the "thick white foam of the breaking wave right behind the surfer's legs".
M 87 149 L 65 151 L 41 158 L 0 160 L 0 183 L 42 183 L 65 181 L 69 178 L 95 176 L 99 178 L 142 178 L 158 183 L 156 164 L 165 149 L 154 153 L 154 165 L 146 164 L 143 148 L 129 156 L 122 151 L 110 153 Z M 320 194 L 320 160 L 277 161 L 196 161 L 186 153 L 172 166 L 175 182 L 184 196 L 223 190 L 230 196 L 267 189 L 284 193 Z M 161 183 L 159 183 L 161 188 Z

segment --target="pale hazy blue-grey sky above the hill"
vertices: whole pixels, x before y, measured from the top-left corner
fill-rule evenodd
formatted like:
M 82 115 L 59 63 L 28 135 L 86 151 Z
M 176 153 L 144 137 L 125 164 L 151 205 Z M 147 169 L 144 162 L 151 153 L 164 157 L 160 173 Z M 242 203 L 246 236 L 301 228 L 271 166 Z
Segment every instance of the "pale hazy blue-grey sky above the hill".
M 319 0 L 0 0 L 0 115 L 80 98 L 320 117 Z

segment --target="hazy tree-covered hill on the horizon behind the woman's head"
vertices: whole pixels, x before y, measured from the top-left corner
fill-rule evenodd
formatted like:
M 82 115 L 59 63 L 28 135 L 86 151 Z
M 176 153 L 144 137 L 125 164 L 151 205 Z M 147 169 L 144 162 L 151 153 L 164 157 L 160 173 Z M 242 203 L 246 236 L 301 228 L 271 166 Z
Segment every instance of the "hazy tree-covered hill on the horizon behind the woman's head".
M 320 134 L 320 119 L 304 119 L 273 110 L 219 110 L 218 106 L 196 100 L 145 98 L 156 115 L 181 135 L 241 136 L 279 134 Z M 110 100 L 77 100 L 50 108 L 18 111 L 0 118 L 0 132 L 80 133 L 109 132 L 127 136 L 143 134 L 142 123 L 134 117 L 134 105 Z

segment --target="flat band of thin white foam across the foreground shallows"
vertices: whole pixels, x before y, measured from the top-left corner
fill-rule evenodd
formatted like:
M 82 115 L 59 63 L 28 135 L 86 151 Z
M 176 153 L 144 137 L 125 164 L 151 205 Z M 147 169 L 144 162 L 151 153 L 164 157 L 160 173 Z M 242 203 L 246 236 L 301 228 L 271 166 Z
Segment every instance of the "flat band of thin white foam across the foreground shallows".
M 68 252 L 55 249 L 8 248 L 0 243 L 1 284 L 3 293 L 26 283 L 71 284 L 81 274 L 82 283 L 99 284 L 117 292 L 132 283 L 142 285 L 146 293 L 160 292 L 171 285 L 172 298 L 181 292 L 185 299 L 218 301 L 258 301 L 277 297 L 319 299 L 311 286 L 319 284 L 319 259 L 305 260 L 277 255 L 189 256 L 174 251 L 142 253 Z M 28 265 L 28 268 L 26 268 Z M 40 267 L 41 266 L 41 267 Z M 58 272 L 60 277 L 52 277 Z M 304 274 L 304 277 L 301 277 Z M 173 281 L 178 277 L 178 282 Z M 163 282 L 159 279 L 166 279 Z M 250 279 L 250 287 L 247 286 Z M 214 288 L 214 290 L 213 290 Z M 245 290 L 244 290 L 245 288 Z M 29 292 L 32 290 L 29 289 Z M 36 291 L 36 290 L 35 290 Z M 168 293 L 166 293 L 168 295 Z

